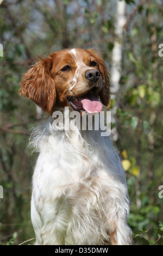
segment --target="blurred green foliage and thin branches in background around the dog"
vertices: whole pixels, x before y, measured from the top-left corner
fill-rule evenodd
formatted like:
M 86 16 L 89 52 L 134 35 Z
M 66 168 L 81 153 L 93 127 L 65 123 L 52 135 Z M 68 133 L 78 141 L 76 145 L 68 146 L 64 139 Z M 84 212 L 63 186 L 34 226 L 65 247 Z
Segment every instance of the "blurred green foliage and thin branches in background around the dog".
M 108 108 L 117 104 L 112 128 L 126 170 L 134 244 L 163 245 L 163 9 L 159 0 L 126 3 L 120 89 Z M 70 47 L 101 50 L 111 70 L 116 1 L 4 0 L 0 17 L 0 240 L 12 245 L 34 237 L 30 184 L 36 156 L 26 148 L 39 120 L 34 103 L 18 96 L 22 74 L 37 55 Z

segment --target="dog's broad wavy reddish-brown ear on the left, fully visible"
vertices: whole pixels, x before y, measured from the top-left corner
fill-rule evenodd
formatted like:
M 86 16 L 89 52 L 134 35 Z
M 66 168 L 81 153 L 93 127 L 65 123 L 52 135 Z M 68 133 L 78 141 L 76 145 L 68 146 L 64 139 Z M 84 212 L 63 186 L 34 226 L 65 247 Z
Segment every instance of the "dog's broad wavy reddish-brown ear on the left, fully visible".
M 52 59 L 40 60 L 24 74 L 20 82 L 19 95 L 34 101 L 47 114 L 50 114 L 56 99 L 54 80 L 51 76 Z

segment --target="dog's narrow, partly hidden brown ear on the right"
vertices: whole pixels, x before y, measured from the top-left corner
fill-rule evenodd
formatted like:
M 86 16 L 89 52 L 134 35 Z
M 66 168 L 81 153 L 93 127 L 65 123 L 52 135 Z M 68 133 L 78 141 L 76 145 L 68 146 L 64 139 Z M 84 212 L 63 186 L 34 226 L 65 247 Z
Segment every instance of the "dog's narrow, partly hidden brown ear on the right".
M 104 60 L 102 59 L 101 56 L 99 56 L 99 53 L 96 51 L 93 51 L 92 49 L 89 49 L 87 51 L 89 53 L 91 53 L 93 57 L 96 58 L 97 63 L 99 64 L 99 71 L 101 72 L 102 78 L 103 78 L 103 87 L 102 87 L 101 91 L 99 92 L 99 97 L 100 97 L 102 103 L 105 106 L 108 106 L 109 100 L 110 100 L 110 74 L 107 71 Z

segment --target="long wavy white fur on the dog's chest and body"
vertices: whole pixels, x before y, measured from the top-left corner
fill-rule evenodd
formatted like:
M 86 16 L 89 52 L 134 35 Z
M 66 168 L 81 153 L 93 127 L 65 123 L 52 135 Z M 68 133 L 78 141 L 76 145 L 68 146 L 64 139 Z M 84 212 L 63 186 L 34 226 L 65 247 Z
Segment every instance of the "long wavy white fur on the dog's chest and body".
M 52 123 L 48 118 L 31 142 L 39 152 L 31 202 L 36 244 L 130 244 L 126 178 L 110 139 L 71 130 L 71 123 L 54 131 Z

